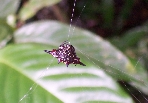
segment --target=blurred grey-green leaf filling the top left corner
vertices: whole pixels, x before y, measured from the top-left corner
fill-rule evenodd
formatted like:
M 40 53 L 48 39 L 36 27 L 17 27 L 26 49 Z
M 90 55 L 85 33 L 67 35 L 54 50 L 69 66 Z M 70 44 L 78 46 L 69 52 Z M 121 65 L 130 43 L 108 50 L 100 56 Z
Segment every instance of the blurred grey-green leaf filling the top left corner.
M 5 18 L 14 14 L 18 8 L 20 0 L 0 0 L 0 18 Z

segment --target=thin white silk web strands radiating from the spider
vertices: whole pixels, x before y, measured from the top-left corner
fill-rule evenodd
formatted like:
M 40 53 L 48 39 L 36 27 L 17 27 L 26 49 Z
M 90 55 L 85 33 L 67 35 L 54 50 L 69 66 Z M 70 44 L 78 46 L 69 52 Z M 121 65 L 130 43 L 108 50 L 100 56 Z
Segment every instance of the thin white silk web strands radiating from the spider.
M 68 35 L 67 35 L 67 41 L 69 42 L 69 44 L 71 43 L 71 38 L 70 38 L 70 37 L 71 37 L 72 35 L 74 35 L 74 31 L 75 31 L 75 27 L 72 28 L 72 22 L 73 22 L 73 17 L 74 17 L 74 13 L 75 13 L 76 2 L 77 2 L 77 0 L 74 0 L 73 9 L 72 9 L 72 14 L 71 14 L 71 19 L 70 19 L 70 25 L 69 25 L 69 33 L 68 33 Z M 81 16 L 81 14 L 83 13 L 83 11 L 85 10 L 86 7 L 87 7 L 87 3 L 83 6 L 83 9 L 81 10 L 81 13 L 79 14 L 79 17 L 78 17 L 76 23 L 77 23 L 78 20 L 80 19 L 80 16 Z M 94 61 L 92 61 L 90 58 L 93 58 L 94 60 L 99 61 L 99 62 L 101 62 L 102 64 L 108 65 L 108 64 L 102 62 L 101 60 L 96 59 L 96 58 L 94 58 L 94 57 L 88 55 L 87 53 L 85 53 L 85 51 L 82 51 L 82 50 L 80 50 L 80 49 L 78 49 L 78 48 L 76 48 L 76 50 L 79 51 L 82 55 L 84 55 L 89 61 L 91 61 L 91 63 L 93 63 L 94 65 L 96 65 L 98 68 L 101 68 L 101 67 L 100 67 L 98 64 L 96 64 Z M 137 63 L 136 63 L 136 65 L 135 65 L 134 68 L 137 68 L 138 63 L 140 63 L 140 61 L 141 61 L 142 58 L 143 58 L 143 56 L 141 56 L 141 57 L 137 60 Z M 48 65 L 48 67 L 45 69 L 45 71 L 41 72 L 41 74 L 39 75 L 39 79 L 41 79 L 41 78 L 45 75 L 46 71 L 50 68 L 51 64 L 53 63 L 53 60 L 54 60 L 54 58 L 53 58 L 52 60 L 50 60 L 50 63 L 49 63 L 49 65 Z M 111 67 L 111 68 L 115 68 L 115 67 L 113 67 L 112 65 L 108 65 L 108 66 Z M 102 69 L 102 68 L 101 68 L 101 69 Z M 125 73 L 124 71 L 122 71 L 122 70 L 120 70 L 120 69 L 118 69 L 118 68 L 115 68 L 115 69 L 118 70 L 118 71 L 120 71 L 120 72 L 122 72 L 123 74 L 125 74 L 125 76 L 127 75 L 127 73 Z M 118 75 L 117 73 L 112 72 L 112 71 L 108 71 L 108 70 L 105 70 L 105 71 L 106 71 L 106 72 L 111 72 L 112 74 L 115 74 L 115 75 Z M 118 76 L 120 77 L 120 75 L 118 75 Z M 129 76 L 131 76 L 131 77 L 133 77 L 133 78 L 136 78 L 136 77 L 134 77 L 134 76 L 132 76 L 132 75 L 130 75 L 130 74 L 129 74 Z M 139 78 L 136 78 L 136 79 L 138 79 L 139 81 L 142 81 L 142 80 L 140 80 Z M 132 79 L 130 79 L 130 81 L 132 81 Z M 122 84 L 124 85 L 124 87 L 128 90 L 128 92 L 131 94 L 131 96 L 136 100 L 136 102 L 137 102 L 137 103 L 142 103 L 142 101 L 140 101 L 140 100 L 137 98 L 137 96 L 132 93 L 132 90 L 128 87 L 128 85 L 124 82 L 124 80 L 121 80 L 121 82 L 122 82 Z M 144 84 L 144 85 L 145 85 L 146 87 L 148 87 L 148 85 L 146 85 L 146 84 Z M 32 93 L 36 90 L 37 87 L 38 87 L 38 84 L 34 83 L 34 84 L 30 87 L 30 89 L 28 90 L 28 92 L 20 99 L 20 101 L 19 101 L 18 103 L 20 103 L 20 102 L 22 102 L 22 101 L 25 101 L 25 99 L 29 98 L 29 95 L 32 94 Z M 137 89 L 138 95 L 140 95 L 141 98 L 144 98 L 144 100 L 148 102 L 147 97 L 138 89 L 138 87 L 134 86 L 134 88 Z

